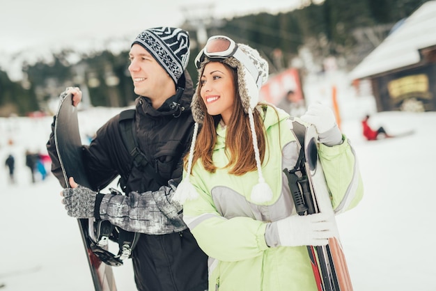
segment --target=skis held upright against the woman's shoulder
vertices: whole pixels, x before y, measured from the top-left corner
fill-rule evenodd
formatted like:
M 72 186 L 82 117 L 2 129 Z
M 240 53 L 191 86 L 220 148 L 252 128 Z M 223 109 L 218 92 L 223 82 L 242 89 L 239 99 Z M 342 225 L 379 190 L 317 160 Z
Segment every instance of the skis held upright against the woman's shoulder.
M 297 121 L 292 122 L 293 133 L 302 148 L 299 165 L 294 173 L 286 173 L 290 181 L 295 209 L 299 215 L 327 213 L 334 216 L 332 201 L 325 175 L 318 157 L 318 134 L 311 125 L 306 127 Z M 295 170 L 294 169 L 294 170 Z M 329 239 L 327 246 L 307 246 L 313 275 L 319 291 L 352 291 L 352 283 L 347 262 L 338 237 L 336 221 L 334 233 L 336 237 Z

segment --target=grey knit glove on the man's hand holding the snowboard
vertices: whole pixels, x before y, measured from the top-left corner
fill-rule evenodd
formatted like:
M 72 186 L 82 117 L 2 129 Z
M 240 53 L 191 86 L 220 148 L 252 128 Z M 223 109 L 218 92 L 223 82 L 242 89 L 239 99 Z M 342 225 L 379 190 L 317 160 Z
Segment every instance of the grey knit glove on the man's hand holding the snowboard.
M 62 195 L 62 203 L 65 204 L 70 217 L 81 219 L 94 217 L 97 192 L 79 185 L 77 188 L 63 189 Z

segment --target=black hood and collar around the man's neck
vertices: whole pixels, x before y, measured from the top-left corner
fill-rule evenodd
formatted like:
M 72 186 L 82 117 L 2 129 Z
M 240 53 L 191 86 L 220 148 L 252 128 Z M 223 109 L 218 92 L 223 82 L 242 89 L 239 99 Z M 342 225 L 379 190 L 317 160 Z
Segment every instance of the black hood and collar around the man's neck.
M 185 70 L 178 81 L 176 94 L 165 100 L 159 109 L 154 109 L 150 99 L 144 96 L 137 97 L 135 104 L 137 111 L 142 114 L 178 117 L 180 114 L 191 112 L 192 95 L 194 95 L 194 86 L 189 72 Z

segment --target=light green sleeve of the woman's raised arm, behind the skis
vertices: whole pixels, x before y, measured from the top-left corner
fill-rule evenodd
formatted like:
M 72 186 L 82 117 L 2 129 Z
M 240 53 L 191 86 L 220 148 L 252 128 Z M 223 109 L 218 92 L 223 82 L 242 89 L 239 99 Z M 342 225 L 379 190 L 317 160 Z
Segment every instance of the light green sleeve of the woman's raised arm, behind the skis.
M 343 136 L 343 143 L 325 146 L 320 143 L 318 150 L 325 180 L 332 196 L 336 214 L 355 207 L 364 194 L 359 163 L 350 141 Z

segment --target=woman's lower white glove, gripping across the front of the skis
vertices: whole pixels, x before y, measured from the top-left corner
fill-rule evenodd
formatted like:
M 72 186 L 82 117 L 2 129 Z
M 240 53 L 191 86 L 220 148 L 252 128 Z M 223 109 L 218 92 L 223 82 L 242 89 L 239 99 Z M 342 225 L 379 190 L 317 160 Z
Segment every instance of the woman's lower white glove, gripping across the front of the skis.
M 334 237 L 336 227 L 332 214 L 293 215 L 274 221 L 281 246 L 325 246 Z

